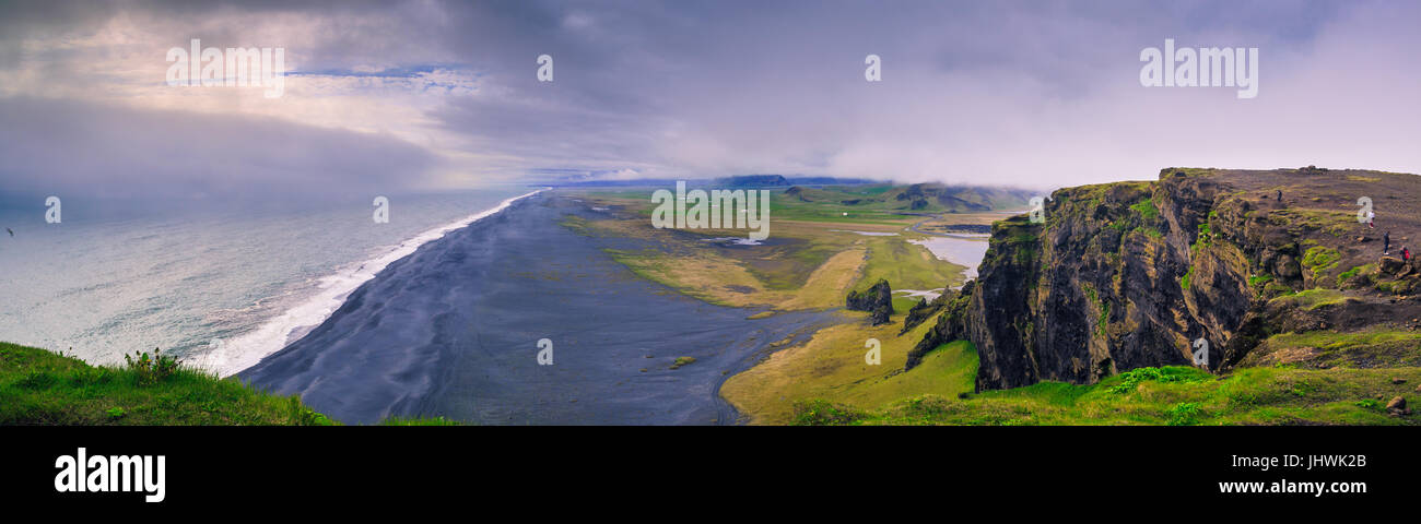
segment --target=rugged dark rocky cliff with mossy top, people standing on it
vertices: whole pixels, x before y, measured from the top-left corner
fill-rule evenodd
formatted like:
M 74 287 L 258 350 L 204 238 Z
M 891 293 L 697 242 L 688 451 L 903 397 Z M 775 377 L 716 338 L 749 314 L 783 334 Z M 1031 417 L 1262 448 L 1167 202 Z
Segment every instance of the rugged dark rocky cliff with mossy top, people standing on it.
M 1418 304 L 1393 304 L 1417 278 L 1377 270 L 1381 230 L 1356 220 L 1367 195 L 1378 216 L 1381 199 L 1394 204 L 1394 243 L 1421 233 L 1415 213 L 1400 212 L 1421 209 L 1410 202 L 1421 195 L 1410 175 L 1165 169 L 1158 182 L 1057 190 L 1043 223 L 1019 216 L 993 226 L 975 288 L 951 298 L 962 311 L 941 315 L 914 354 L 971 339 L 978 389 L 1000 389 L 1189 365 L 1201 338 L 1218 371 L 1289 327 L 1404 324 Z M 1314 288 L 1341 298 L 1322 311 L 1287 307 Z M 1351 314 L 1363 321 L 1336 325 Z

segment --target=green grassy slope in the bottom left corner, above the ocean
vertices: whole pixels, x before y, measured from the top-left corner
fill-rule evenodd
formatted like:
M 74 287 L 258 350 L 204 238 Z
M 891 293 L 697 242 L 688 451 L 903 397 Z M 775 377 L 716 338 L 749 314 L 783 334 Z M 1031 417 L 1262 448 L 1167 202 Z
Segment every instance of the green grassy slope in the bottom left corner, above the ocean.
M 72 356 L 0 342 L 0 425 L 337 423 L 297 396 L 270 395 L 182 365 L 91 366 Z

